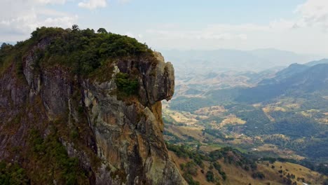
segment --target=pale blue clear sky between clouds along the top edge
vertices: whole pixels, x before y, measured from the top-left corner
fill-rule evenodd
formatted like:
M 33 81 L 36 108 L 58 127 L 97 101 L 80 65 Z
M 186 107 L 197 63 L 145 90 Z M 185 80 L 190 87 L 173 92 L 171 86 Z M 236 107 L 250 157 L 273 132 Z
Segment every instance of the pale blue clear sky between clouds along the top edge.
M 104 8 L 89 10 L 78 8 L 76 1 L 71 1 L 65 6 L 48 5 L 48 8 L 78 15 L 77 22 L 82 27 L 106 25 L 110 28 L 112 25 L 113 29 L 120 30 L 122 27 L 130 27 L 131 24 L 137 26 L 182 24 L 189 27 L 215 23 L 267 24 L 279 18 L 295 18 L 294 9 L 304 2 L 304 0 L 287 2 L 282 0 L 130 0 L 125 3 L 108 1 Z

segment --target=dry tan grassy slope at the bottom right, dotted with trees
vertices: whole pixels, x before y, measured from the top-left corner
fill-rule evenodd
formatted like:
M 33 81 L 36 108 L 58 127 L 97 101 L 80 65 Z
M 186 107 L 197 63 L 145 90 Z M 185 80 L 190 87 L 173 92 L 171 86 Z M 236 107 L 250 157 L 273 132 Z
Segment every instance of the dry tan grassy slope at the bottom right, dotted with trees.
M 183 173 L 181 170 L 180 164 L 186 163 L 189 161 L 189 159 L 186 158 L 179 158 L 174 152 L 170 151 L 170 155 L 172 156 L 173 160 L 177 164 L 180 173 Z M 207 161 L 203 161 L 204 163 L 204 171 L 205 173 L 207 170 L 209 170 L 210 163 Z M 293 163 L 281 163 L 281 162 L 275 162 L 273 164 L 268 164 L 268 162 L 264 161 L 261 163 L 258 163 L 258 170 L 260 172 L 264 172 L 265 179 L 254 179 L 252 178 L 252 172 L 243 170 L 240 167 L 236 167 L 235 165 L 231 165 L 228 163 L 224 163 L 223 160 L 219 160 L 219 164 L 221 165 L 221 169 L 226 172 L 228 179 L 224 181 L 217 170 L 213 170 L 214 176 L 219 177 L 220 184 L 227 184 L 227 185 L 234 185 L 234 184 L 240 184 L 240 185 L 248 185 L 248 184 L 268 184 L 271 185 L 280 185 L 285 184 L 283 182 L 283 177 L 286 177 L 287 174 L 294 174 L 295 179 L 292 179 L 292 181 L 296 181 L 297 184 L 302 185 L 301 180 L 297 181 L 297 177 L 303 177 L 308 184 L 322 184 L 324 179 L 327 179 L 326 176 L 322 176 L 321 174 L 317 172 L 313 172 L 312 170 L 309 170 L 306 167 L 303 167 L 301 165 L 293 164 Z M 275 168 L 272 168 L 272 165 L 275 166 Z M 282 167 L 280 169 L 280 166 Z M 202 174 L 200 172 L 201 168 L 197 166 L 198 174 L 197 176 L 193 177 L 194 180 L 199 181 L 200 184 L 213 184 L 211 182 L 206 181 L 205 174 Z M 286 172 L 283 177 L 280 177 L 279 170 L 282 170 L 283 172 Z M 288 171 L 287 171 L 288 170 Z

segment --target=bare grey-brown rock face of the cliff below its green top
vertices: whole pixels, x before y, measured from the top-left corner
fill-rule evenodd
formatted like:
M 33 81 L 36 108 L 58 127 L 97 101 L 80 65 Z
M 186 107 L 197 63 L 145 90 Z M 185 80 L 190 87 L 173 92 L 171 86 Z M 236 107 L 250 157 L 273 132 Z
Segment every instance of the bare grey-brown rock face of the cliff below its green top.
M 42 39 L 1 73 L 0 160 L 21 165 L 32 184 L 67 183 L 62 167 L 78 169 L 78 184 L 186 184 L 163 140 L 160 101 L 174 93 L 172 64 L 160 53 L 156 61 L 125 57 L 97 81 L 60 64 L 36 67 L 36 51 L 49 45 Z M 134 76 L 135 95 L 118 89 L 118 74 Z M 58 165 L 49 138 L 76 165 Z

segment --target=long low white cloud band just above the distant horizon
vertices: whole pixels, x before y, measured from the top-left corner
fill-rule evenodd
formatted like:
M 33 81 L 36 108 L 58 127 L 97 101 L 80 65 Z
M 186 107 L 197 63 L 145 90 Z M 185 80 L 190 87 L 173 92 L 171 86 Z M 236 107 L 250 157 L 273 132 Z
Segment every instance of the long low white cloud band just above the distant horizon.
M 266 25 L 212 24 L 205 27 L 156 25 L 146 29 L 142 42 L 158 50 L 252 50 L 278 48 L 296 53 L 327 55 L 328 35 L 317 27 L 294 28 L 295 21 L 275 20 Z

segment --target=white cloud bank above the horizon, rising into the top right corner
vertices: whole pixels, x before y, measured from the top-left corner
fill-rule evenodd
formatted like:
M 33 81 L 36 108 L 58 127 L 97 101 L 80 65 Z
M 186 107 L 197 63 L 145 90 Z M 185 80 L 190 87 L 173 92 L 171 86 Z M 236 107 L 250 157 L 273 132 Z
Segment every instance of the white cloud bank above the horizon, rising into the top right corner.
M 294 11 L 294 18 L 278 17 L 266 23 L 188 26 L 167 22 L 151 25 L 139 33 L 143 34 L 142 42 L 157 49 L 278 48 L 327 56 L 328 0 L 308 0 L 295 9 L 290 11 Z

